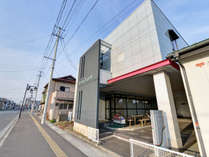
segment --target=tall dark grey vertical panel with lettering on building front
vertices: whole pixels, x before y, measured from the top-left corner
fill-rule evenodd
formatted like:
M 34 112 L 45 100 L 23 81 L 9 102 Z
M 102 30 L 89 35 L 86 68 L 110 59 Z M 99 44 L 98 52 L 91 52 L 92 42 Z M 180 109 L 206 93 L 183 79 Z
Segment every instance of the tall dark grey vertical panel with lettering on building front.
M 80 58 L 77 98 L 75 102 L 75 122 L 93 128 L 98 128 L 100 43 L 100 40 L 95 42 Z M 82 100 L 80 101 L 78 97 L 79 92 L 82 92 Z M 81 103 L 79 104 L 79 102 Z M 77 116 L 78 114 L 79 116 Z

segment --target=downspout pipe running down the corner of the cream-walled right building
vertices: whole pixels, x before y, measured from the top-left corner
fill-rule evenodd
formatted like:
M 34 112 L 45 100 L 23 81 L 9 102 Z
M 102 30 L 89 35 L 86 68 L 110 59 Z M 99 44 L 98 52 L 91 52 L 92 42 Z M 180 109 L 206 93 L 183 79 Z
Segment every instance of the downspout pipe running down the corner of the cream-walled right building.
M 188 78 L 187 78 L 187 73 L 186 73 L 184 65 L 181 64 L 180 61 L 178 61 L 178 63 L 179 63 L 179 66 L 180 66 L 180 71 L 181 71 L 182 79 L 183 79 L 183 82 L 184 82 L 185 91 L 186 91 L 186 94 L 187 94 L 187 99 L 188 99 L 189 108 L 190 108 L 191 115 L 192 115 L 194 130 L 196 132 L 196 137 L 197 137 L 198 147 L 199 147 L 199 150 L 200 150 L 200 155 L 202 157 L 207 157 L 205 147 L 204 147 L 204 143 L 203 143 L 201 130 L 200 130 L 200 127 L 199 127 L 199 122 L 198 122 L 198 119 L 197 119 L 197 114 L 196 114 L 195 108 L 194 108 L 194 101 L 193 101 L 192 93 L 191 93 L 191 90 L 190 90 L 190 87 L 189 87 L 189 81 L 188 81 Z

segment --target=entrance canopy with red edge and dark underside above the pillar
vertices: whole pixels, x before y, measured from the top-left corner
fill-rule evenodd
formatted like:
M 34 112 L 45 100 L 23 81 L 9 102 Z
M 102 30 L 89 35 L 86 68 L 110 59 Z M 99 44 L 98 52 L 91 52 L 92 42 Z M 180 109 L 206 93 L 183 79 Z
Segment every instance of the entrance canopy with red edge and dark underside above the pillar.
M 160 71 L 170 76 L 174 93 L 184 89 L 178 64 L 166 59 L 108 80 L 101 92 L 155 97 L 153 74 Z

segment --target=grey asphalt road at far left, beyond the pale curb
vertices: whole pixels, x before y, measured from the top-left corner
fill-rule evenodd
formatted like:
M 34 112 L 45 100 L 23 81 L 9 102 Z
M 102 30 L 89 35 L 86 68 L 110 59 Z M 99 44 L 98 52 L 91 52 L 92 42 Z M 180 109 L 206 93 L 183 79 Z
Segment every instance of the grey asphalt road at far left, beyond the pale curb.
M 17 111 L 0 111 L 0 132 L 15 118 L 17 114 Z

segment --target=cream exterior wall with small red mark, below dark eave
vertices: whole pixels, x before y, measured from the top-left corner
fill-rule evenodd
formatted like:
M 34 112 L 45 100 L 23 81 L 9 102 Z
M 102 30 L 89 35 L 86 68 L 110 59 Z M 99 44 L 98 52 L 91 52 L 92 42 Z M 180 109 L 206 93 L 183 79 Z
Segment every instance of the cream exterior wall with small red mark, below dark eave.
M 198 64 L 204 63 L 202 66 Z M 209 156 L 209 52 L 183 62 L 206 154 Z M 196 125 L 196 124 L 195 124 Z

